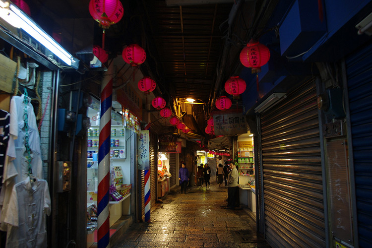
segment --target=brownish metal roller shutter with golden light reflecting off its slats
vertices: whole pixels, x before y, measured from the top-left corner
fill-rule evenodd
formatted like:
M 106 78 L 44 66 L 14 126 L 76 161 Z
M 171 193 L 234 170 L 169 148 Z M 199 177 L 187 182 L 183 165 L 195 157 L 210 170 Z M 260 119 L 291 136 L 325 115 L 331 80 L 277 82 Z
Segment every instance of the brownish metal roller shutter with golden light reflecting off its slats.
M 261 113 L 261 140 L 266 240 L 272 247 L 325 247 L 313 80 Z

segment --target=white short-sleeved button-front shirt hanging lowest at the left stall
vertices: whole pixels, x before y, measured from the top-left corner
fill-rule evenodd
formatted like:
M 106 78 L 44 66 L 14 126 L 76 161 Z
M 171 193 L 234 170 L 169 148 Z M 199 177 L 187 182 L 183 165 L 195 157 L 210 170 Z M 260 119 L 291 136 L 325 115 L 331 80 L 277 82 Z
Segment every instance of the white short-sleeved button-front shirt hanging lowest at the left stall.
M 30 178 L 13 187 L 9 206 L 4 213 L 8 225 L 6 247 L 47 248 L 46 215 L 51 213 L 48 183 Z

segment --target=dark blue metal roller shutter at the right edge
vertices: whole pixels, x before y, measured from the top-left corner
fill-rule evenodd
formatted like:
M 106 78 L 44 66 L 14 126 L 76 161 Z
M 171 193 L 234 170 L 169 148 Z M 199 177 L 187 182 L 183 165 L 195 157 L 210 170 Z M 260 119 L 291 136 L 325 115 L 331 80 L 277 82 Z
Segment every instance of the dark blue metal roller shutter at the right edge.
M 346 58 L 360 247 L 371 247 L 372 45 Z

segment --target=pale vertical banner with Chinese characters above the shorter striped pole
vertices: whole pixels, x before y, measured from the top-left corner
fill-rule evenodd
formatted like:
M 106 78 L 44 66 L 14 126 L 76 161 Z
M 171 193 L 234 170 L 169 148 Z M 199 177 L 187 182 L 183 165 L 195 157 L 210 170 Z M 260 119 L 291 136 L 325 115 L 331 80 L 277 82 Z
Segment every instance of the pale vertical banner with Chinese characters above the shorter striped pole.
M 137 136 L 138 170 L 150 169 L 150 131 L 141 130 Z

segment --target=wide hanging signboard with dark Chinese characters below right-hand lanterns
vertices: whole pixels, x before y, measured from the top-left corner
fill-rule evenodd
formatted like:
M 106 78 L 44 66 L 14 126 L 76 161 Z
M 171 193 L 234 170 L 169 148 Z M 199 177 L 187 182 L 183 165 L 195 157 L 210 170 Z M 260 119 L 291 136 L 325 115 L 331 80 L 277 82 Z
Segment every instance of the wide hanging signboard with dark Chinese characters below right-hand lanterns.
M 213 122 L 216 135 L 247 133 L 246 117 L 242 113 L 214 115 Z

